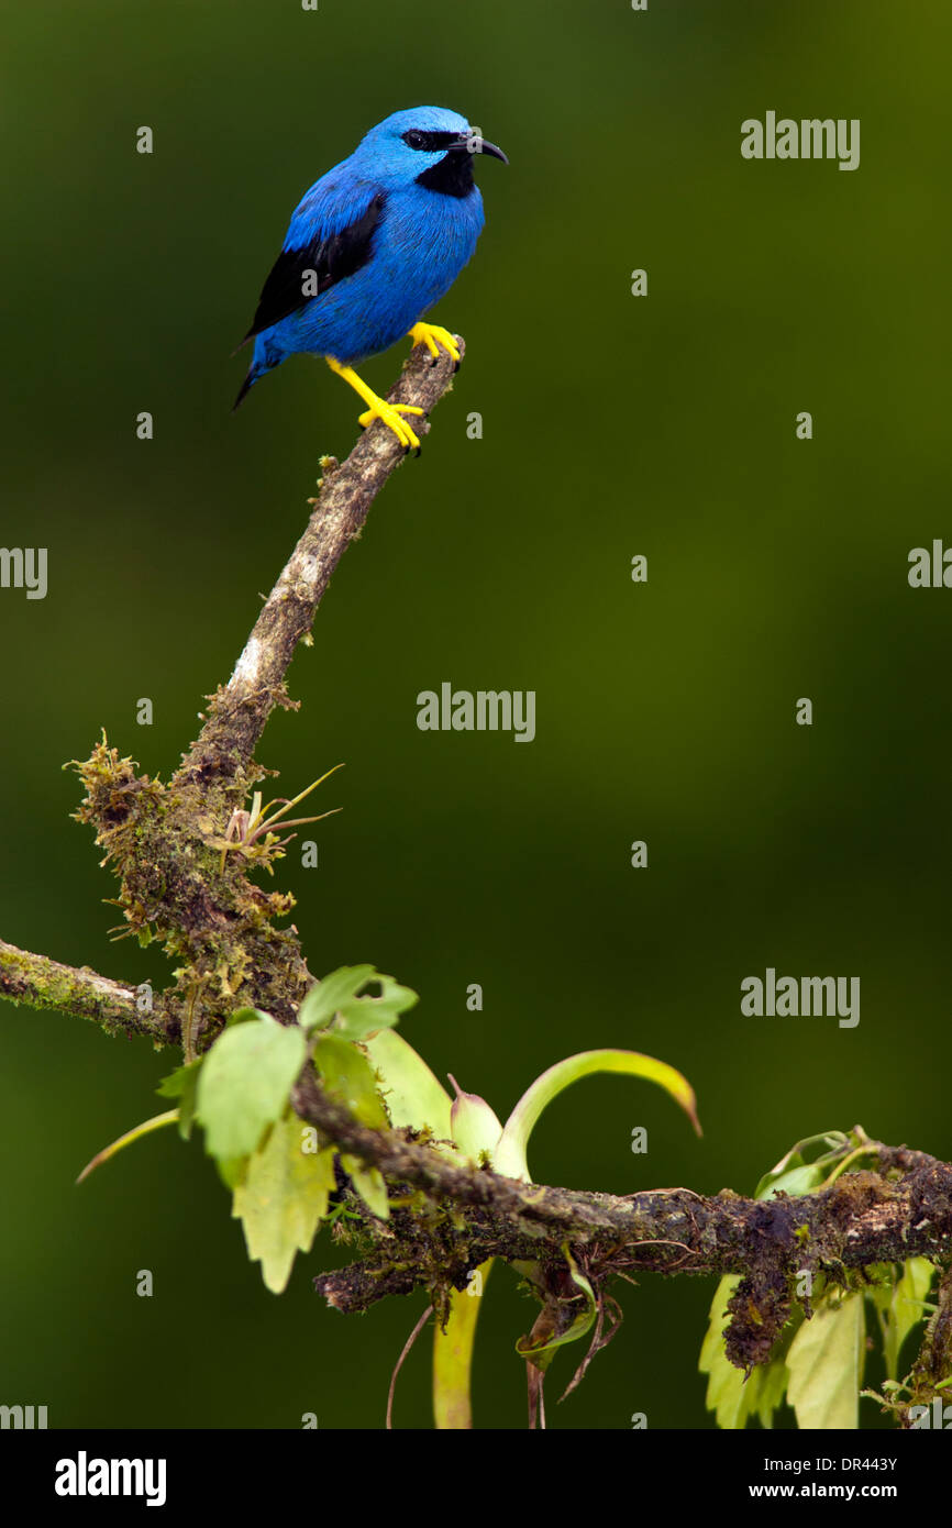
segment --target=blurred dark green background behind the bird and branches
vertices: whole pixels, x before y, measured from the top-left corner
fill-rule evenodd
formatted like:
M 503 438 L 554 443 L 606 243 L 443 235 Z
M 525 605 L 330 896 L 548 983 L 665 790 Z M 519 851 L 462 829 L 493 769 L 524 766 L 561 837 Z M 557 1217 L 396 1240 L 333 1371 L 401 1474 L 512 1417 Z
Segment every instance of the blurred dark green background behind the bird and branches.
M 61 764 L 105 727 L 168 776 L 231 672 L 358 400 L 296 358 L 231 417 L 229 353 L 303 191 L 379 118 L 439 102 L 510 168 L 478 167 L 486 232 L 434 313 L 466 336 L 455 391 L 341 564 L 290 672 L 301 711 L 261 749 L 289 795 L 347 761 L 321 788 L 345 810 L 319 868 L 292 851 L 278 876 L 309 963 L 416 987 L 403 1033 L 498 1112 L 593 1045 L 689 1076 L 703 1141 L 663 1094 L 596 1079 L 539 1126 L 539 1181 L 750 1192 L 799 1137 L 857 1122 L 952 1155 L 952 594 L 906 584 L 909 549 L 952 532 L 947 8 L 57 0 L 8 32 L 0 539 L 46 545 L 50 587 L 0 594 L 3 937 L 164 981 L 157 952 L 110 943 L 113 883 Z M 860 118 L 860 168 L 743 160 L 740 124 L 769 108 Z M 385 390 L 400 361 L 364 370 Z M 419 732 L 417 691 L 443 680 L 535 689 L 536 741 Z M 859 1027 L 743 1019 L 767 966 L 859 975 Z M 162 1106 L 174 1056 L 3 1021 L 0 1400 L 50 1426 L 380 1426 L 422 1296 L 325 1309 L 325 1236 L 266 1293 L 197 1140 L 151 1137 L 75 1189 Z M 573 1355 L 556 1363 L 550 1426 L 709 1426 L 712 1282 L 619 1293 L 625 1325 L 564 1407 Z M 483 1426 L 524 1426 L 530 1320 L 497 1271 Z M 429 1423 L 426 1343 L 396 1423 Z

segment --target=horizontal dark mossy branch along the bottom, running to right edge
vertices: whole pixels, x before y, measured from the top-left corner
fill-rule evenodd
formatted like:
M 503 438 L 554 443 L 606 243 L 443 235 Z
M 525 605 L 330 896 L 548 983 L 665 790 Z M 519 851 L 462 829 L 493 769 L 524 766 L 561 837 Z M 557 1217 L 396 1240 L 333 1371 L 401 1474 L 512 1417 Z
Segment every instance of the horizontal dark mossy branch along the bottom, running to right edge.
M 749 1368 L 770 1352 L 790 1314 L 795 1279 L 805 1270 L 839 1277 L 917 1256 L 940 1265 L 952 1259 L 952 1166 L 906 1146 L 866 1143 L 859 1126 L 863 1155 L 876 1170 L 842 1174 L 816 1193 L 764 1201 L 730 1189 L 714 1196 L 654 1189 L 617 1196 L 457 1166 L 405 1132 L 359 1125 L 321 1093 L 310 1071 L 292 1102 L 303 1120 L 379 1167 L 397 1198 L 411 1187 L 468 1212 L 458 1219 L 445 1216 L 434 1230 L 402 1209 L 380 1224 L 355 1201 L 373 1251 L 315 1280 L 338 1309 L 362 1311 L 420 1287 L 440 1311 L 449 1288 L 465 1288 L 472 1268 L 487 1258 L 541 1261 L 558 1299 L 568 1242 L 587 1276 L 602 1285 L 636 1271 L 743 1274 L 730 1306 L 727 1352 Z

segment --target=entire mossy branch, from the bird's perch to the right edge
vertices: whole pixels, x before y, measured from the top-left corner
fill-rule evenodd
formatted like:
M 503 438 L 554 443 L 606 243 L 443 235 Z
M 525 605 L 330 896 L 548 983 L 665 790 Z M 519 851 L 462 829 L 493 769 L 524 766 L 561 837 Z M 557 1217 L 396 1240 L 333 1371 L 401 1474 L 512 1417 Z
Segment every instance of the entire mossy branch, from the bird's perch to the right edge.
M 460 342 L 460 350 L 463 348 Z M 417 347 L 391 390 L 393 402 L 429 411 L 452 380 L 452 362 L 432 364 Z M 428 422 L 414 422 L 425 435 Z M 249 879 L 281 857 L 275 834 L 234 837 L 252 787 L 269 773 L 255 747 L 275 706 L 293 706 L 286 675 L 307 642 L 316 608 L 370 506 L 402 460 L 382 423 L 350 457 L 325 458 L 307 529 L 254 625 L 228 685 L 211 698 L 199 738 L 168 784 L 141 775 L 105 738 L 78 764 L 86 799 L 76 816 L 93 825 L 119 879 L 124 932 L 159 940 L 176 961 L 174 983 L 151 1001 L 142 989 L 87 967 L 61 966 L 0 941 L 0 995 L 37 1008 L 93 1019 L 105 1030 L 180 1041 L 186 1054 L 206 1048 L 240 1005 L 293 1022 L 313 984 L 296 929 L 275 921 L 293 906 Z M 248 821 L 248 819 L 244 819 Z M 258 821 L 257 817 L 254 821 Z M 240 850 L 240 851 L 238 851 Z M 408 1132 L 373 1131 L 329 1099 L 306 1068 L 293 1089 L 296 1114 L 344 1154 L 374 1164 L 394 1192 L 387 1224 L 355 1201 L 361 1262 L 319 1276 L 319 1293 L 339 1309 L 367 1309 L 387 1294 L 419 1287 L 442 1316 L 449 1290 L 489 1258 L 530 1262 L 544 1314 L 578 1299 L 565 1285 L 565 1248 L 594 1287 L 636 1270 L 662 1274 L 740 1273 L 730 1303 L 729 1351 L 735 1363 L 759 1361 L 792 1302 L 793 1274 L 818 1268 L 860 1277 L 873 1264 L 914 1254 L 952 1259 L 952 1167 L 906 1148 L 869 1143 L 876 1170 L 842 1174 L 828 1189 L 788 1199 L 701 1196 L 663 1189 L 627 1198 L 573 1192 L 457 1166 Z M 940 1287 L 940 1311 L 920 1358 L 923 1387 L 952 1352 L 952 1288 Z

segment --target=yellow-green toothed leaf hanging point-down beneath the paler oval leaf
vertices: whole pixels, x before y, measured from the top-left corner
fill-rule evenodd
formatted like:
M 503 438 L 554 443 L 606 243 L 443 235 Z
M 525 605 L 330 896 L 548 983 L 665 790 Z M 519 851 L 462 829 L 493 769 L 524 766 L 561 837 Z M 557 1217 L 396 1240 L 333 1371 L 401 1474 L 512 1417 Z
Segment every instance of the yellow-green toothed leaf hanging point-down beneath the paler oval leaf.
M 281 1294 L 298 1251 L 310 1251 L 335 1187 L 333 1146 L 303 1149 L 312 1132 L 290 1112 L 277 1120 L 234 1193 L 248 1256 L 261 1264 L 264 1284 Z

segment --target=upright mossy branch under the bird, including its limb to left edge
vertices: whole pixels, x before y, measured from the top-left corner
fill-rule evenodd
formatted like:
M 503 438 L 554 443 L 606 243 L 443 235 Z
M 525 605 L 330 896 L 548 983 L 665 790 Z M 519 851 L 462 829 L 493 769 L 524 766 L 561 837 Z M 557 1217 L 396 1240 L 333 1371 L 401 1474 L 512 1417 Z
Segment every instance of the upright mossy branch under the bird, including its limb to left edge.
M 460 353 L 465 345 L 458 341 Z M 454 362 L 411 350 L 391 402 L 416 403 L 425 416 L 452 385 Z M 429 420 L 416 425 L 423 437 Z M 131 989 L 96 986 L 83 972 L 17 952 L 0 966 L 0 995 L 35 1007 L 58 1007 L 98 1019 L 104 1028 L 182 1039 L 202 1050 L 240 1005 L 293 1019 L 313 983 L 293 927 L 278 929 L 293 898 L 266 892 L 249 879 L 281 859 L 278 834 L 255 843 L 254 856 L 228 842 L 229 822 L 267 773 L 255 746 L 275 706 L 295 706 L 286 674 L 300 642 L 310 639 L 316 608 L 370 506 L 403 460 L 394 434 L 374 423 L 341 465 L 322 460 L 324 477 L 312 515 L 254 625 L 234 674 L 211 698 L 199 738 L 168 784 L 141 775 L 104 738 L 76 769 L 86 787 L 78 811 L 119 877 L 124 932 L 159 940 L 176 963 L 174 986 L 156 998 L 153 1021 L 141 1015 Z M 223 843 L 226 847 L 223 848 Z

